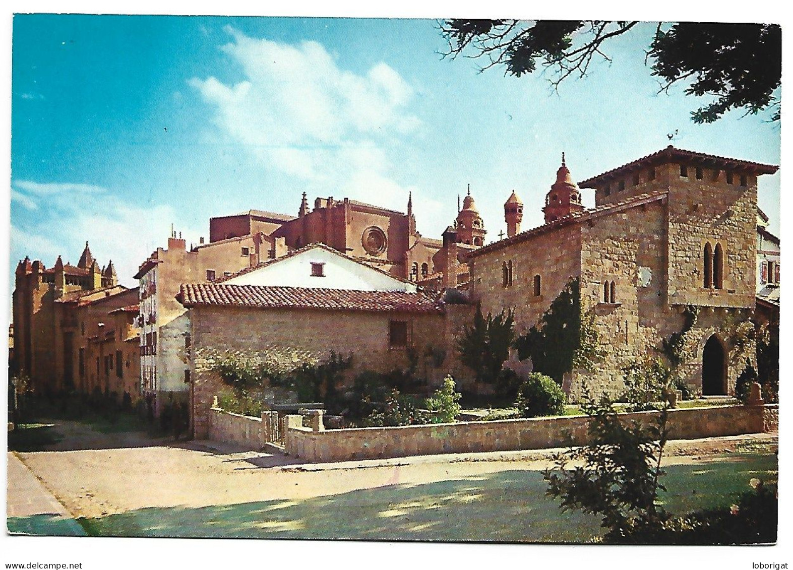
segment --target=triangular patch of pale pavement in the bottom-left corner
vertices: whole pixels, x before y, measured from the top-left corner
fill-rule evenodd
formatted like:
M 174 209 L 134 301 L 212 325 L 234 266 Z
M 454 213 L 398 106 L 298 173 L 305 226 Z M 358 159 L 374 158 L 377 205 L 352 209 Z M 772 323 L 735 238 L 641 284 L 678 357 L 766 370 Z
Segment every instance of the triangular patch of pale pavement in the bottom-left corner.
M 6 513 L 10 534 L 85 536 L 66 507 L 36 479 L 14 453 L 8 453 Z

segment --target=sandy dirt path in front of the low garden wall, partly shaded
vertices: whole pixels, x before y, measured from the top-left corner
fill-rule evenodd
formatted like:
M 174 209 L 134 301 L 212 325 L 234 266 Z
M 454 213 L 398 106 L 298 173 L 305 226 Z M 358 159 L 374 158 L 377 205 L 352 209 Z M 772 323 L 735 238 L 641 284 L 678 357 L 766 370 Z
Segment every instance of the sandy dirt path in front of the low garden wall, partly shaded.
M 64 428 L 66 437 L 55 447 L 74 449 L 78 440 L 83 438 L 100 445 L 100 435 L 86 434 L 83 430 L 84 427 Z M 370 527 L 377 528 L 371 525 L 358 527 L 354 520 L 340 524 L 332 517 L 317 521 L 317 509 L 329 508 L 339 514 L 347 512 L 344 516 L 352 519 L 360 516 L 379 520 L 393 516 L 393 521 L 398 521 L 399 525 L 384 528 L 398 531 L 397 537 L 412 537 L 409 532 L 418 531 L 414 528 L 416 525 L 409 526 L 404 522 L 403 519 L 408 517 L 406 514 L 420 513 L 426 518 L 421 524 L 431 525 L 433 521 L 427 517 L 431 517 L 435 509 L 452 505 L 454 509 L 461 509 L 460 513 L 469 513 L 470 505 L 465 501 L 481 501 L 485 496 L 495 502 L 496 512 L 491 513 L 491 517 L 497 517 L 499 507 L 496 503 L 504 501 L 507 503 L 500 508 L 515 510 L 515 516 L 523 515 L 523 511 L 517 510 L 521 506 L 531 511 L 531 506 L 527 505 L 531 505 L 532 500 L 536 503 L 537 499 L 524 497 L 520 504 L 511 504 L 507 495 L 512 488 L 519 488 L 521 492 L 525 488 L 535 488 L 535 495 L 542 498 L 544 484 L 539 472 L 552 465 L 550 450 L 312 465 L 296 463 L 278 454 L 241 452 L 216 442 L 174 445 L 163 440 L 151 442 L 143 435 L 127 435 L 127 439 L 115 436 L 113 434 L 105 442 L 127 441 L 136 446 L 48 450 L 18 453 L 18 456 L 75 517 L 107 521 L 119 515 L 123 529 L 119 534 L 137 534 L 140 531 L 144 535 L 162 532 L 166 536 L 246 536 L 245 529 L 250 525 L 260 525 L 261 513 L 270 510 L 278 511 L 278 517 L 267 515 L 266 518 L 278 518 L 281 526 L 264 530 L 256 526 L 259 534 L 255 536 L 278 532 L 277 536 L 366 537 Z M 768 454 L 768 446 L 774 441 L 772 436 L 757 435 L 670 442 L 665 465 L 704 465 L 710 461 L 709 457 L 717 457 L 714 453 L 721 454 L 718 457 L 723 461 L 724 453 L 750 449 L 751 446 L 764 447 Z M 773 461 L 776 465 L 776 458 Z M 416 502 L 416 497 L 429 497 L 431 500 L 427 499 L 430 503 L 424 504 L 421 500 Z M 318 498 L 324 499 L 316 503 L 320 500 Z M 323 507 L 308 509 L 312 501 Z M 329 507 L 328 501 L 336 501 L 337 506 Z M 243 505 L 249 507 L 242 509 L 240 506 Z M 548 508 L 550 503 L 546 510 Z M 457 515 L 458 511 L 454 509 L 450 512 Z M 479 520 L 477 517 L 480 515 L 460 516 L 473 516 L 474 520 Z M 182 526 L 170 526 L 164 522 L 169 517 L 181 520 Z M 303 527 L 293 525 L 294 521 L 307 518 L 310 524 L 305 522 Z M 223 526 L 226 523 L 228 528 Z M 586 524 L 591 526 L 592 521 Z M 321 532 L 317 530 L 318 534 L 311 534 L 315 526 Z M 219 528 L 230 534 L 213 534 L 220 532 Z M 351 528 L 351 534 L 344 534 L 347 532 L 344 529 Z M 341 534 L 333 534 L 335 531 Z M 399 534 L 403 531 L 408 534 Z M 487 539 L 482 538 L 481 530 L 474 526 L 459 532 L 466 537 Z M 460 535 L 449 535 L 449 539 L 454 537 L 459 539 Z M 542 540 L 542 537 L 538 539 Z

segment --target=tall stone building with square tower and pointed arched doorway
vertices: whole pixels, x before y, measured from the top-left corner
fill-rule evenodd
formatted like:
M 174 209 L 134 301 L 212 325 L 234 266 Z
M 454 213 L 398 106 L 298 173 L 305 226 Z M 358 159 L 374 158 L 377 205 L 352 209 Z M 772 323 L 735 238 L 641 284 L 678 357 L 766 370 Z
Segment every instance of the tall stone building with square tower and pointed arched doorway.
M 514 309 L 522 334 L 579 279 L 605 356 L 565 378 L 573 400 L 582 382 L 619 392 L 626 365 L 660 356 L 696 313 L 680 372 L 706 395 L 731 393 L 754 358 L 757 177 L 777 168 L 670 146 L 577 185 L 563 159 L 546 224 L 469 254 L 471 298 L 484 312 Z M 595 208 L 580 205 L 582 189 Z M 508 224 L 514 213 L 505 207 Z

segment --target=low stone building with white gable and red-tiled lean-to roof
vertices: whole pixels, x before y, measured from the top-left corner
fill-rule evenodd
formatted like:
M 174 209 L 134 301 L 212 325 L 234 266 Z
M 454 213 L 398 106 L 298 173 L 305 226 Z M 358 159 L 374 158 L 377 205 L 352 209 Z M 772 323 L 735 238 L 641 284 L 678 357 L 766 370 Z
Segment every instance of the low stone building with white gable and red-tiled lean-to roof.
M 190 408 L 194 437 L 206 436 L 213 396 L 222 389 L 213 369 L 235 355 L 262 362 L 325 362 L 331 352 L 352 355 L 348 380 L 362 370 L 408 365 L 408 351 L 431 352 L 469 319 L 468 305 L 450 306 L 394 277 L 312 244 L 215 283 L 182 285 L 187 309 Z M 442 377 L 455 358 L 447 358 Z M 429 365 L 428 365 L 429 366 Z M 457 365 L 459 367 L 459 365 Z M 428 371 L 428 375 L 432 376 Z

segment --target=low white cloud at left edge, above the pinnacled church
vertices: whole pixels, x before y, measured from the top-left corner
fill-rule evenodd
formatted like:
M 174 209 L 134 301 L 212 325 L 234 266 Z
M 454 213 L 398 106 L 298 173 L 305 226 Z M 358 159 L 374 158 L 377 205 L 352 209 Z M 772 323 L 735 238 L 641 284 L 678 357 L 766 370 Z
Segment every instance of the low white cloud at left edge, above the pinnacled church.
M 100 266 L 113 259 L 119 281 L 136 285 L 132 275 L 140 263 L 156 247 L 166 247 L 170 224 L 181 219 L 170 206 L 132 205 L 101 186 L 28 180 L 11 186 L 12 200 L 29 210 L 12 218 L 12 270 L 25 255 L 47 267 L 58 255 L 76 264 L 87 240 Z M 188 240 L 198 235 L 180 229 Z

